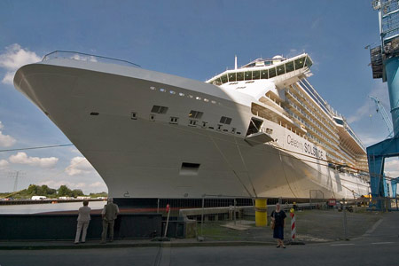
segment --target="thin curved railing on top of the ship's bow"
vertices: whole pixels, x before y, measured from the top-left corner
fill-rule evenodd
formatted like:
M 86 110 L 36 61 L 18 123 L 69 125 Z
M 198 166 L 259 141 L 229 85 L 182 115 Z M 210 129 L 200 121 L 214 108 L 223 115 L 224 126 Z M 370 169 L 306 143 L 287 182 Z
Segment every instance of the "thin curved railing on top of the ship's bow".
M 43 57 L 43 62 L 51 59 L 73 59 L 88 62 L 101 62 L 106 64 L 116 64 L 122 66 L 139 66 L 135 63 L 129 62 L 122 59 L 113 59 L 103 56 L 98 56 L 90 53 L 78 52 L 78 51 L 52 51 Z M 141 66 L 139 66 L 141 67 Z

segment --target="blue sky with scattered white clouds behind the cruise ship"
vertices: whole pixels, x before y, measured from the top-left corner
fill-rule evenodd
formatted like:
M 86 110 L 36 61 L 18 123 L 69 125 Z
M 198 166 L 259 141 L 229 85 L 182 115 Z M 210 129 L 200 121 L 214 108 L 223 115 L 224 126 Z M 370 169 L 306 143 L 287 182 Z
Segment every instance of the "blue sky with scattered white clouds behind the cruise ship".
M 15 90 L 7 76 L 55 50 L 126 59 L 144 68 L 205 81 L 259 57 L 306 51 L 309 81 L 347 117 L 366 145 L 387 137 L 367 95 L 389 112 L 387 85 L 372 79 L 378 41 L 371 1 L 7 1 L 0 2 L 0 149 L 70 143 Z M 12 66 L 6 64 L 12 60 Z M 2 138 L 3 137 L 3 138 Z M 1 141 L 3 139 L 3 142 Z M 23 154 L 25 153 L 25 154 Z M 399 163 L 391 162 L 391 171 Z M 106 185 L 74 147 L 0 153 L 0 192 L 27 184 L 67 184 L 84 192 Z M 396 176 L 399 172 L 392 173 Z

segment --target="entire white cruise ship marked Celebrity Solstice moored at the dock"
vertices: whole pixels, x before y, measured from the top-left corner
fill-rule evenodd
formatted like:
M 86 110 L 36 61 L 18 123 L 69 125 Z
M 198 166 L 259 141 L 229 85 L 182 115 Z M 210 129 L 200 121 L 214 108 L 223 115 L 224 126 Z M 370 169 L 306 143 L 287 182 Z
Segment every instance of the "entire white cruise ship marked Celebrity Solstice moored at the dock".
M 76 146 L 114 199 L 353 199 L 364 145 L 309 83 L 312 60 L 256 59 L 200 82 L 56 51 L 14 86 Z

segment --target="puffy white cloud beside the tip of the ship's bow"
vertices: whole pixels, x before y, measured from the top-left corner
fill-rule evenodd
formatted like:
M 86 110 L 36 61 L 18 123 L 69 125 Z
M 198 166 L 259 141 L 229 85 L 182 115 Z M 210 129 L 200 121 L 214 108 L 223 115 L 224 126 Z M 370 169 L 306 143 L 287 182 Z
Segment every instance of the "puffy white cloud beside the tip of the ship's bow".
M 5 47 L 5 52 L 0 54 L 0 67 L 7 71 L 2 80 L 3 83 L 12 84 L 14 74 L 20 66 L 35 63 L 41 58 L 34 51 L 28 51 L 14 43 Z

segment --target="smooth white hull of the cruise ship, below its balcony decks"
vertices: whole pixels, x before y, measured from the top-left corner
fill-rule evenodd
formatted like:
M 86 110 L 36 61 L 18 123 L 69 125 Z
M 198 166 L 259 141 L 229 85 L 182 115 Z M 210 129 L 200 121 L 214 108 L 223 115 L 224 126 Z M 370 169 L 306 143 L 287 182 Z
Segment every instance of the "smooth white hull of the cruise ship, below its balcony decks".
M 273 129 L 276 141 L 249 145 L 251 99 L 211 84 L 132 67 L 106 71 L 101 64 L 75 60 L 23 66 L 14 84 L 90 161 L 113 198 L 328 199 L 368 193 L 363 179 L 328 168 L 325 160 L 290 145 L 293 132 L 271 121 L 263 127 Z M 168 106 L 168 113 L 151 117 L 154 105 Z M 191 110 L 204 111 L 196 126 L 189 125 Z M 233 123 L 217 130 L 221 115 Z M 170 117 L 177 117 L 177 124 Z M 184 162 L 199 167 L 186 171 Z

